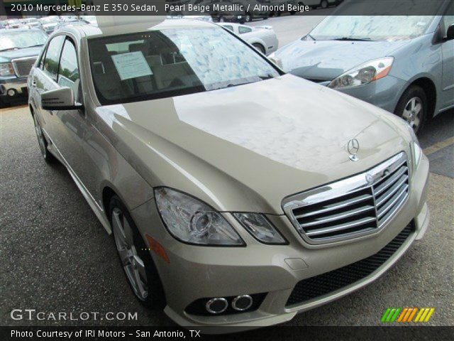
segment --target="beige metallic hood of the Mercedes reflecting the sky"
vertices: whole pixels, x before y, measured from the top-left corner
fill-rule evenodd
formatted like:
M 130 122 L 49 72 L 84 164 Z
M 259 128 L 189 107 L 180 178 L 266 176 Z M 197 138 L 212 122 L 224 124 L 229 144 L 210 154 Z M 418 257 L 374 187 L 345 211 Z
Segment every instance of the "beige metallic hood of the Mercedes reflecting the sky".
M 150 185 L 221 211 L 282 214 L 285 196 L 408 146 L 391 114 L 293 75 L 96 112 L 99 130 Z M 348 158 L 353 138 L 358 162 Z

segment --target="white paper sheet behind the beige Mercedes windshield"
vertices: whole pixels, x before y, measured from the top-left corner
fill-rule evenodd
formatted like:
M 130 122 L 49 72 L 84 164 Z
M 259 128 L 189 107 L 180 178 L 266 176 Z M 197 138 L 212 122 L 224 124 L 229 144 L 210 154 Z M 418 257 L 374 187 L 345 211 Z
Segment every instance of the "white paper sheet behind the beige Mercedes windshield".
M 153 75 L 141 51 L 112 55 L 121 80 Z

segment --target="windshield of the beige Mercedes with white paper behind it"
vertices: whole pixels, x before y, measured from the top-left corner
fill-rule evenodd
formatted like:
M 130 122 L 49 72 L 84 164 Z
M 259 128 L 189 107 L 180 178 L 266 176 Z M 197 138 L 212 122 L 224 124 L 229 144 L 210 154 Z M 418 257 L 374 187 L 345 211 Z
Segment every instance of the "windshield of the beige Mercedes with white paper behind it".
M 216 26 L 94 38 L 89 56 L 101 104 L 204 92 L 279 75 L 253 48 Z

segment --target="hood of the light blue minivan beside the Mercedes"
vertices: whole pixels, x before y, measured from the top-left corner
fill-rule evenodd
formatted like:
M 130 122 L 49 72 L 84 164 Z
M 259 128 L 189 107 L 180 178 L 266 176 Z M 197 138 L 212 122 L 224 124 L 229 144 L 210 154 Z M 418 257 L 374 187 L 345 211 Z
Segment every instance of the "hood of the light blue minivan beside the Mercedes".
M 297 40 L 277 50 L 284 70 L 310 80 L 333 80 L 362 63 L 390 55 L 409 40 Z

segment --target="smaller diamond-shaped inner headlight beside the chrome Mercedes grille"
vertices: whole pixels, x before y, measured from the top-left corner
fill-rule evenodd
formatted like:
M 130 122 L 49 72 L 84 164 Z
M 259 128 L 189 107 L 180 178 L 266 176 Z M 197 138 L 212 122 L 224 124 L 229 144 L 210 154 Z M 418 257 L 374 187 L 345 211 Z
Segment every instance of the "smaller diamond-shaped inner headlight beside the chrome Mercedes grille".
M 287 244 L 264 215 L 258 213 L 233 213 L 238 222 L 259 242 L 265 244 Z

